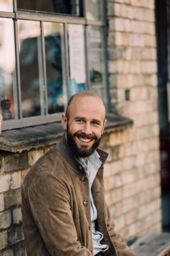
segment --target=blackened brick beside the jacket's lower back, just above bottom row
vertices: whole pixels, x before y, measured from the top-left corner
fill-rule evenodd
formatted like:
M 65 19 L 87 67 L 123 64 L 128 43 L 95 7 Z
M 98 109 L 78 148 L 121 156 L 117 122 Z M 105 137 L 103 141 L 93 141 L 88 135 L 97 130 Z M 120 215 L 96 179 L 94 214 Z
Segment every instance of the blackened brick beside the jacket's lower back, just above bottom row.
M 22 227 L 15 227 L 8 230 L 9 245 L 17 244 L 24 240 L 24 233 Z

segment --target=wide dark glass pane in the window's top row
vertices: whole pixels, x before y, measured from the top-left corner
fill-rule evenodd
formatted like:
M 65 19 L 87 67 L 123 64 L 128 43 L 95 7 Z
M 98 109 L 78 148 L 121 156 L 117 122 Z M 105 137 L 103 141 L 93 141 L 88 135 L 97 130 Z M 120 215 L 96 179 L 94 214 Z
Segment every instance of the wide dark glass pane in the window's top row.
M 62 14 L 79 15 L 78 0 L 17 0 L 17 8 L 33 11 L 58 12 Z

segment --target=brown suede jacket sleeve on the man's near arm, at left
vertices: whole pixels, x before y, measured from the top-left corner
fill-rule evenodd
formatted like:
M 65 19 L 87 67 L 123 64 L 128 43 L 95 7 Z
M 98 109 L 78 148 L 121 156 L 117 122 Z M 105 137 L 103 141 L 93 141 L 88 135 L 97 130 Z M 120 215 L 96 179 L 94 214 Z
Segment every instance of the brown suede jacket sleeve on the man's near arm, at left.
M 39 174 L 29 187 L 27 203 L 51 256 L 92 256 L 77 241 L 70 195 L 64 181 L 50 173 Z

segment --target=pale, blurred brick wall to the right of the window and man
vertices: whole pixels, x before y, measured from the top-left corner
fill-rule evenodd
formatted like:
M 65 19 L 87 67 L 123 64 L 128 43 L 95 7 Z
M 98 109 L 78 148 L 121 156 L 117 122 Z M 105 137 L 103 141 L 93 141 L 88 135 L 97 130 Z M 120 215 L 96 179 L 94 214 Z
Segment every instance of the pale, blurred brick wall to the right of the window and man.
M 107 1 L 112 110 L 134 120 L 108 135 L 106 198 L 126 240 L 161 231 L 154 0 Z M 104 146 L 106 147 L 106 145 Z

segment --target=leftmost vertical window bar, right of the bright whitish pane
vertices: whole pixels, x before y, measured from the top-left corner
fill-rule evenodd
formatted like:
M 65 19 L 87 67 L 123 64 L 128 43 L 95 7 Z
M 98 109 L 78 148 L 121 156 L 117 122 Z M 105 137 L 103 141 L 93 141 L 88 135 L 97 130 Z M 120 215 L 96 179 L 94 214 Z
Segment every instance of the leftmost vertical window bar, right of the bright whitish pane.
M 17 20 L 13 20 L 14 23 L 14 37 L 15 37 L 15 59 L 16 59 L 16 89 L 14 88 L 14 100 L 16 103 L 16 113 L 18 119 L 22 118 L 21 111 L 21 83 L 20 83 L 20 61 L 19 61 L 19 40 L 18 40 L 18 25 Z

